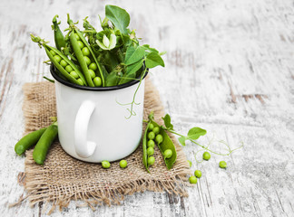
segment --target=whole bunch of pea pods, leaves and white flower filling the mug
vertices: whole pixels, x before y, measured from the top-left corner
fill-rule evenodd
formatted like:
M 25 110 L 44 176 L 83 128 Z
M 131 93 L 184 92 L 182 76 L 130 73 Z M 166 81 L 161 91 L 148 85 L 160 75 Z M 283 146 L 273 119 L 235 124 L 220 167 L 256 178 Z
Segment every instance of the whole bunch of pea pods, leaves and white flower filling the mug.
M 116 16 L 129 16 L 122 8 L 113 5 L 106 5 L 105 10 L 116 13 Z M 103 31 L 97 32 L 86 17 L 81 31 L 76 26 L 78 23 L 73 23 L 67 14 L 68 28 L 64 31 L 68 33 L 64 36 L 57 18 L 55 15 L 52 25 L 55 47 L 33 34 L 31 38 L 40 48 L 44 47 L 55 72 L 64 80 L 82 86 L 110 87 L 142 79 L 147 69 L 146 60 L 152 62 L 149 68 L 164 66 L 161 53 L 148 44 L 139 46 L 134 31 L 127 28 L 129 21 L 121 24 L 120 20 L 106 13 L 101 21 Z

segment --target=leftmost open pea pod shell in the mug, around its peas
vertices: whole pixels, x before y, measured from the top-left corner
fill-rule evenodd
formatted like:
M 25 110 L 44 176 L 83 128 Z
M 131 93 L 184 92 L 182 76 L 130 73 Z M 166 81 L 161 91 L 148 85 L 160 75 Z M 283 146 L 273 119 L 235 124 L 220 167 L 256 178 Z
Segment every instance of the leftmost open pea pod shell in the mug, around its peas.
M 57 70 L 60 71 L 67 80 L 69 80 L 69 81 L 71 81 L 71 82 L 73 82 L 75 84 L 80 84 L 76 79 L 73 78 L 73 76 L 71 76 L 67 71 L 64 70 L 64 67 L 62 67 L 58 63 L 58 61 L 56 61 L 54 59 L 54 56 L 50 52 L 51 50 L 53 50 L 59 56 L 61 56 L 62 59 L 64 61 L 66 61 L 73 68 L 73 70 L 80 76 L 81 80 L 83 80 L 83 84 L 84 85 L 87 85 L 87 81 L 84 79 L 83 73 L 78 70 L 78 68 L 73 64 L 73 61 L 70 61 L 62 52 L 58 51 L 54 47 L 51 47 L 51 46 L 49 46 L 49 45 L 47 45 L 45 43 L 43 43 L 42 45 L 44 46 L 45 52 L 47 53 L 47 56 L 49 57 L 50 61 L 53 62 L 54 66 L 57 68 Z

